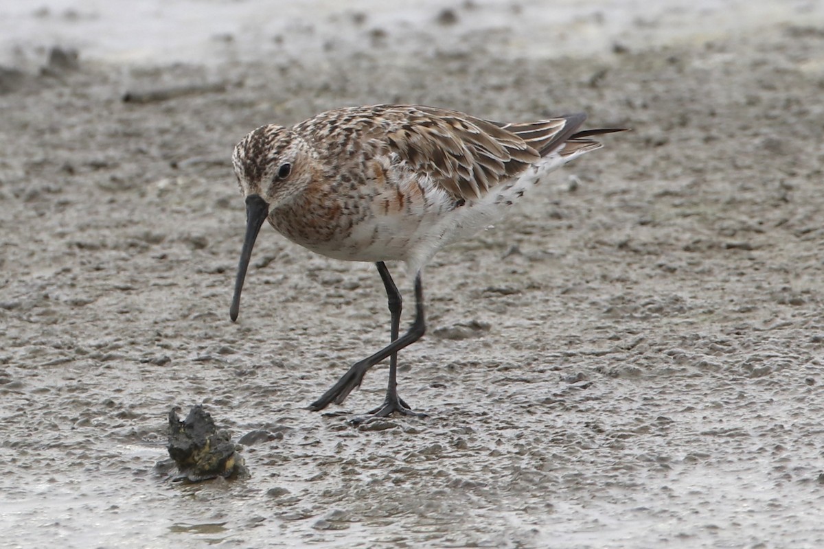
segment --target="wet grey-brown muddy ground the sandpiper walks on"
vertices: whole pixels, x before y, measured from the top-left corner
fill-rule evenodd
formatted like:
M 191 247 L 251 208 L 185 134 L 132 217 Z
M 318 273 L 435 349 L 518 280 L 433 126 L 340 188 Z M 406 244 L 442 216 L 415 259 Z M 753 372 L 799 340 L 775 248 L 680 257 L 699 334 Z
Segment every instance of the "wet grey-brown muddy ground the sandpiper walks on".
M 511 38 L 2 72 L 0 545 L 822 547 L 824 26 L 593 58 L 503 58 Z M 429 417 L 354 428 L 385 367 L 305 407 L 386 342 L 377 272 L 266 227 L 231 323 L 230 154 L 394 101 L 634 131 L 436 256 L 400 356 Z M 171 407 L 201 402 L 268 433 L 249 480 L 155 469 Z

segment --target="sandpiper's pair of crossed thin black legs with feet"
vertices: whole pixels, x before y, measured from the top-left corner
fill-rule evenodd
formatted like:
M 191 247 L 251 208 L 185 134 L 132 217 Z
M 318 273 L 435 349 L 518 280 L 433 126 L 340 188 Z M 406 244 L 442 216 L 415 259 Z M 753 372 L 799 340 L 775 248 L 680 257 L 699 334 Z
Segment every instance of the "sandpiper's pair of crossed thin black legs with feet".
M 321 398 L 318 398 L 315 402 L 312 402 L 309 405 L 310 410 L 322 410 L 323 408 L 329 406 L 332 402 L 339 404 L 344 402 L 346 397 L 349 396 L 355 388 L 358 388 L 363 381 L 363 376 L 366 375 L 367 371 L 372 368 L 372 366 L 376 365 L 378 362 L 383 361 L 386 357 L 391 357 L 390 365 L 389 365 L 389 386 L 386 389 L 386 401 L 384 405 L 378 408 L 375 412 L 376 415 L 381 414 L 384 412 L 386 405 L 390 402 L 397 404 L 396 406 L 399 408 L 395 410 L 394 408 L 387 411 L 386 414 L 389 415 L 392 412 L 410 412 L 406 403 L 403 402 L 397 396 L 397 352 L 400 349 L 403 349 L 407 345 L 418 341 L 426 331 L 426 322 L 424 320 L 424 291 L 421 286 L 420 281 L 420 273 L 414 279 L 414 298 L 415 298 L 415 317 L 414 322 L 410 326 L 410 329 L 401 337 L 398 337 L 398 333 L 400 331 L 400 309 L 401 309 L 401 300 L 400 300 L 400 292 L 398 291 L 397 287 L 395 286 L 395 282 L 392 281 L 392 278 L 389 275 L 389 271 L 386 269 L 386 265 L 381 263 L 377 263 L 377 270 L 381 274 L 383 279 L 384 286 L 386 286 L 386 296 L 389 300 L 389 310 L 392 314 L 392 330 L 391 330 L 391 337 L 392 342 L 387 345 L 386 347 L 382 348 L 380 351 L 377 351 L 374 355 L 369 356 L 368 358 L 363 359 L 363 361 L 356 362 L 349 368 L 349 371 L 346 372 L 336 384 L 334 384 L 328 391 L 323 393 Z M 411 412 L 410 412 L 411 413 Z

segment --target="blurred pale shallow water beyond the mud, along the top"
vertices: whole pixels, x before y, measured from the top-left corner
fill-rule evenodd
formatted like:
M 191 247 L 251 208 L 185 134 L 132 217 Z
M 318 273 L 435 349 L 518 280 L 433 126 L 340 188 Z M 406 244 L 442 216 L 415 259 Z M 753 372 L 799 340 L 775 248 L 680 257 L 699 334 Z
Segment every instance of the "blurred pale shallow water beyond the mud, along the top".
M 821 17 L 822 9 L 812 0 L 358 0 L 344 9 L 330 0 L 6 0 L 0 2 L 0 63 L 36 63 L 55 44 L 110 63 L 220 65 L 283 56 L 305 62 L 330 49 L 375 45 L 403 57 L 427 44 L 462 52 L 489 36 L 498 39 L 498 55 L 589 56 L 609 53 L 615 44 L 700 43 L 766 24 L 803 24 Z

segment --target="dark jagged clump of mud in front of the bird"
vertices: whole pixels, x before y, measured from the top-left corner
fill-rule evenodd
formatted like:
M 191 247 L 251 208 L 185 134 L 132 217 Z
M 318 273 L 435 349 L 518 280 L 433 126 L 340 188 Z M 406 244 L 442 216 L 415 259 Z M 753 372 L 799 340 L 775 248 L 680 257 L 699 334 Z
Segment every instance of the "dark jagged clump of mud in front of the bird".
M 250 476 L 228 431 L 218 430 L 203 406 L 193 406 L 183 421 L 177 416 L 179 411 L 180 408 L 174 408 L 169 412 L 166 446 L 180 471 L 175 480 L 201 482 L 217 477 Z

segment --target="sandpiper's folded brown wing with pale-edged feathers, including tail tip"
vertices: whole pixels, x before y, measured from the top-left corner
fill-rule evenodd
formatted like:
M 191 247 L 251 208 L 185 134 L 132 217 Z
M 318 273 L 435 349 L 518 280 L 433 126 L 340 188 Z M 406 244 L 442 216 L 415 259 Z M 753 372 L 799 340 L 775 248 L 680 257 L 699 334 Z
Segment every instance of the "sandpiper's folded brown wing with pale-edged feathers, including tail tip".
M 575 133 L 585 118 L 584 114 L 569 114 L 499 123 L 449 109 L 374 105 L 330 111 L 296 128 L 315 136 L 319 145 L 336 143 L 335 151 L 352 150 L 355 142 L 368 143 L 370 156 L 390 153 L 410 172 L 426 174 L 456 199 L 471 200 L 522 174 L 542 156 L 588 151 L 598 144 L 585 137 L 620 131 Z

